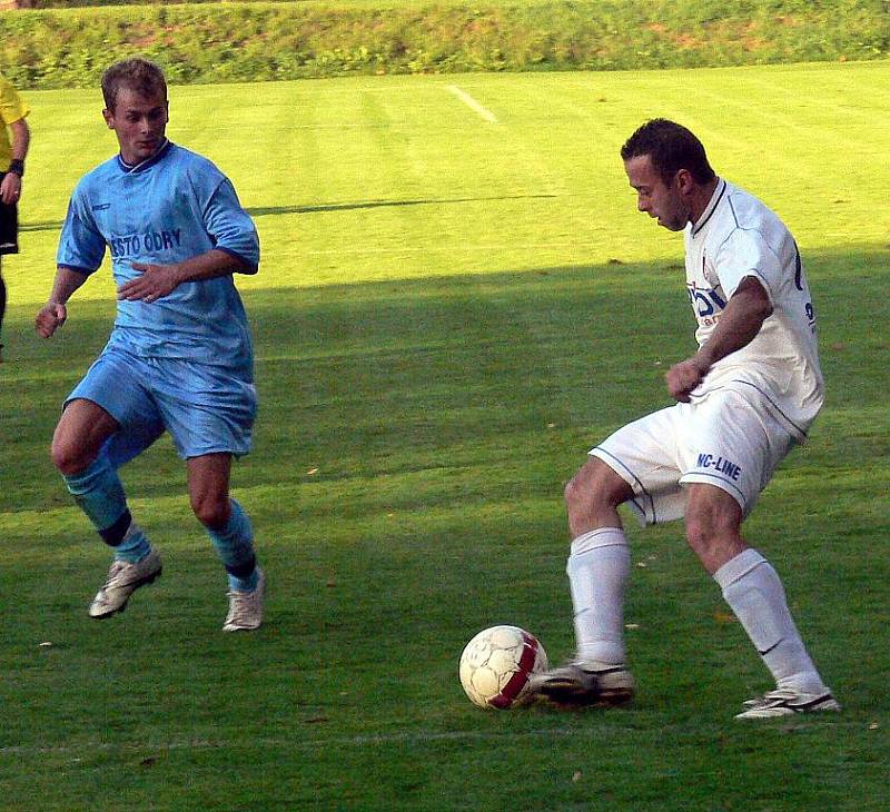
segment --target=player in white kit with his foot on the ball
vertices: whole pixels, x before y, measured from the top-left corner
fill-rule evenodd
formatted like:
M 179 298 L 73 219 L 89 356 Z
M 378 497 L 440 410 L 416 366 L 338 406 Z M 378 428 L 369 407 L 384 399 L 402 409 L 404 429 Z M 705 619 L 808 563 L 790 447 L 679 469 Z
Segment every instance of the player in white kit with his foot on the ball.
M 615 432 L 565 491 L 577 656 L 533 679 L 557 705 L 633 697 L 623 636 L 630 551 L 617 507 L 644 524 L 685 517 L 686 538 L 775 680 L 740 719 L 838 711 L 773 567 L 741 524 L 823 400 L 815 317 L 794 239 L 751 195 L 719 178 L 699 139 L 664 119 L 622 148 L 637 207 L 684 231 L 699 350 L 665 375 L 676 405 Z

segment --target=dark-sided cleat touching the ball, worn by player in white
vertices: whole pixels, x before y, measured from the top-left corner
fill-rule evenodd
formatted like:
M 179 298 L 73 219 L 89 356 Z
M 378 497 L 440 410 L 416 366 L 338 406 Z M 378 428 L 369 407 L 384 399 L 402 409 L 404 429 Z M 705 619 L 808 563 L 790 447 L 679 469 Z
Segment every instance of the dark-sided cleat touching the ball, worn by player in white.
M 580 661 L 532 674 L 528 693 L 558 707 L 613 707 L 630 702 L 636 686 L 624 665 L 593 669 Z

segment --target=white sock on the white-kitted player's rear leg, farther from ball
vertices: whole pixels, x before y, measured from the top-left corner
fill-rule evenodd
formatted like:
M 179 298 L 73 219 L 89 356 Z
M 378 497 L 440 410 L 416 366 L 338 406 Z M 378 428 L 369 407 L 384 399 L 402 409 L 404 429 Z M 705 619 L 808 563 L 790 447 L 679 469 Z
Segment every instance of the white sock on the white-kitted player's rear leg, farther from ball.
M 714 573 L 714 581 L 778 687 L 827 691 L 791 617 L 782 582 L 760 553 L 751 548 L 739 553 Z

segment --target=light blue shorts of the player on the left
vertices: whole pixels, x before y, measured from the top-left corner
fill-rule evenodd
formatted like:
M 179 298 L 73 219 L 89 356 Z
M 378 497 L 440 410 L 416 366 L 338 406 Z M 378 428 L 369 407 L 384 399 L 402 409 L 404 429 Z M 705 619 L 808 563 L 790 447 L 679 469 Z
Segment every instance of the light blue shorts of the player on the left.
M 92 400 L 120 424 L 106 449 L 116 467 L 167 430 L 182 459 L 250 450 L 257 412 L 253 383 L 208 364 L 145 358 L 109 348 L 68 396 Z

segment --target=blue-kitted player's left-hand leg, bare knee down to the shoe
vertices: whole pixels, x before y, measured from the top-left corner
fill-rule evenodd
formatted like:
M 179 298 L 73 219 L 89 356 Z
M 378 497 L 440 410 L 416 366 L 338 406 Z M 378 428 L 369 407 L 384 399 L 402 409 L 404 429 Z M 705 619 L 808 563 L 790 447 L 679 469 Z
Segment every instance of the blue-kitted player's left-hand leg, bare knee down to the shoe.
M 123 486 L 102 454 L 106 440 L 120 428 L 101 406 L 78 398 L 68 404 L 52 437 L 52 462 L 68 491 L 115 558 L 106 582 L 89 607 L 91 617 L 122 612 L 136 590 L 161 573 L 160 556 L 132 521 Z

